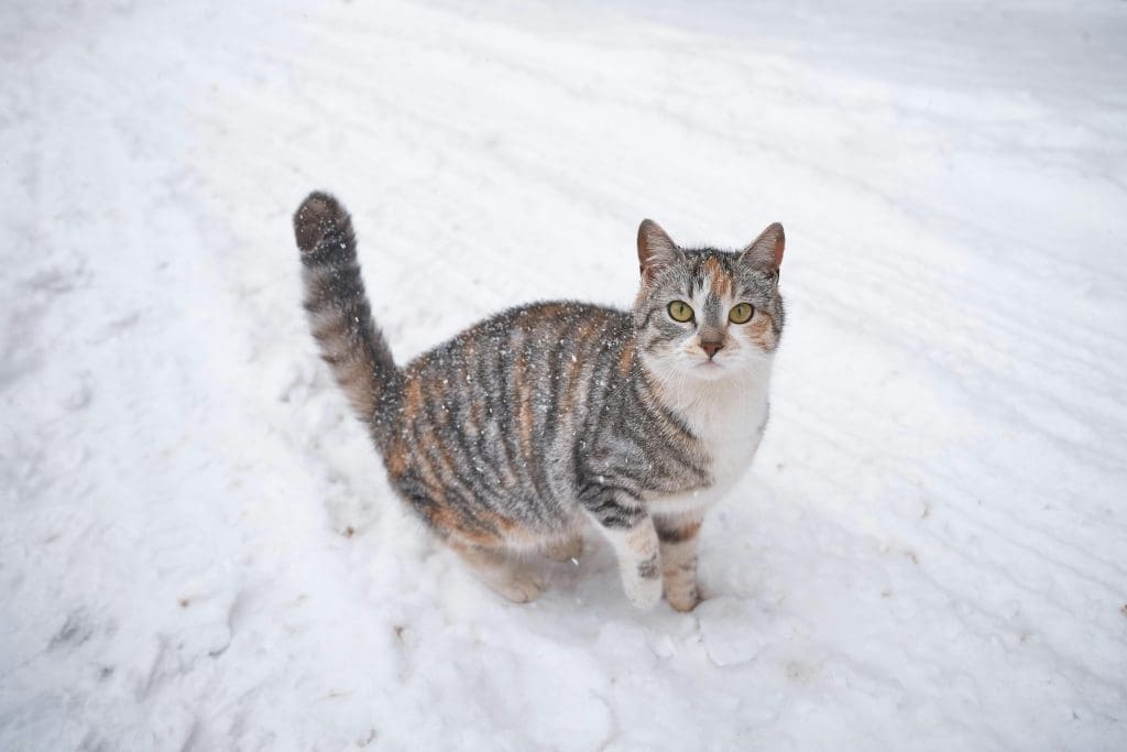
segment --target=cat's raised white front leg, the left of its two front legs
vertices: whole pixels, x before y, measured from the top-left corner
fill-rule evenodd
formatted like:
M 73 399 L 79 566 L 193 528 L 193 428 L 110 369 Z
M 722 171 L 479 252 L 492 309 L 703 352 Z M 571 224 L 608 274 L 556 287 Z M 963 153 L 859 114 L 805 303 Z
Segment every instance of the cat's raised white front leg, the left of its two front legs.
M 662 600 L 662 560 L 649 513 L 637 499 L 612 492 L 585 507 L 614 548 L 627 598 L 639 609 L 654 608 Z

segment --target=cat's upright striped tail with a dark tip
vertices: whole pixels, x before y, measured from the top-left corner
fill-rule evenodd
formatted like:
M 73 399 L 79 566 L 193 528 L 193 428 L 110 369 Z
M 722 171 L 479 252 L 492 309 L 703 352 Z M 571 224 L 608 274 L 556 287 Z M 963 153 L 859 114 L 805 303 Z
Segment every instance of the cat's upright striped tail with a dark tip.
M 353 409 L 379 434 L 376 408 L 399 370 L 372 320 L 352 219 L 336 198 L 313 192 L 294 213 L 293 230 L 301 249 L 305 310 L 321 357 Z

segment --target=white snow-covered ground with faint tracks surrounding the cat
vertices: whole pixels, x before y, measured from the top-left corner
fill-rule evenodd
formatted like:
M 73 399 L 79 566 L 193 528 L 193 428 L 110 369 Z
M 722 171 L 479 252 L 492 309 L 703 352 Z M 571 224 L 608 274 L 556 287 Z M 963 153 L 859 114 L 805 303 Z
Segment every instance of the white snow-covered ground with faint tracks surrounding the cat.
M 0 749 L 1127 749 L 1127 3 L 5 2 Z M 712 598 L 513 605 L 391 496 L 399 360 L 787 227 Z

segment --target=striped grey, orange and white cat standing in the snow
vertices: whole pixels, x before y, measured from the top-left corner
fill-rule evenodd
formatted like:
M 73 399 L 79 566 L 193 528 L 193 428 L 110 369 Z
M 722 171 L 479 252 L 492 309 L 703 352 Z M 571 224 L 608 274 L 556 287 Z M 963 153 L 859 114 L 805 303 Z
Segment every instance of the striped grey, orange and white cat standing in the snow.
M 700 601 L 704 512 L 752 463 L 784 312 L 782 225 L 739 251 L 638 230 L 630 311 L 512 308 L 403 368 L 372 319 L 352 220 L 316 192 L 293 218 L 304 304 L 325 361 L 391 486 L 490 587 L 531 601 L 523 556 L 610 541 L 637 607 Z

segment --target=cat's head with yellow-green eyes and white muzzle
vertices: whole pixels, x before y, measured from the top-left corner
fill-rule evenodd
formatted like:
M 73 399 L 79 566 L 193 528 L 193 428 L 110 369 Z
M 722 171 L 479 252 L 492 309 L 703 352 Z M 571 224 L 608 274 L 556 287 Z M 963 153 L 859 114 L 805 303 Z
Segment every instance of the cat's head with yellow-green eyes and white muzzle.
M 769 364 L 782 334 L 782 225 L 738 251 L 680 248 L 653 220 L 638 228 L 638 350 L 654 371 L 707 381 Z

